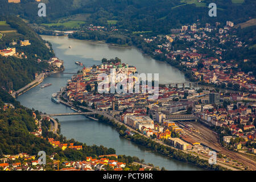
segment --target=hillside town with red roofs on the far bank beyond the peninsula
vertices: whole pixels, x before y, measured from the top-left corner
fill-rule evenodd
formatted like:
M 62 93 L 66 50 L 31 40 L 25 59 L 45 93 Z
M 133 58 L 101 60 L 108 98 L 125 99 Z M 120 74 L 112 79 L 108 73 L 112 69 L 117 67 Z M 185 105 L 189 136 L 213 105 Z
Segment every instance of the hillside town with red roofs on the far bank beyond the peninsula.
M 222 89 L 255 92 L 253 72 L 241 70 L 241 65 L 249 66 L 251 60 L 243 59 L 238 64 L 226 55 L 232 48 L 247 46 L 245 39 L 237 35 L 235 27 L 233 22 L 226 21 L 224 27 L 221 27 L 220 22 L 213 25 L 206 23 L 205 26 L 198 23 L 187 24 L 180 29 L 171 29 L 171 34 L 168 35 L 148 36 L 146 32 L 141 32 L 138 36 L 146 43 L 146 47 L 139 48 L 155 59 L 166 60 L 167 63 L 178 67 L 186 72 L 186 76 L 192 81 L 200 81 L 201 84 Z M 106 28 L 90 24 L 83 28 L 86 31 L 117 31 L 122 34 L 115 26 Z M 76 38 L 73 34 L 82 35 L 84 30 L 70 31 L 65 35 Z M 246 41 L 252 40 L 250 38 Z M 151 51 L 152 48 L 155 48 L 154 51 Z

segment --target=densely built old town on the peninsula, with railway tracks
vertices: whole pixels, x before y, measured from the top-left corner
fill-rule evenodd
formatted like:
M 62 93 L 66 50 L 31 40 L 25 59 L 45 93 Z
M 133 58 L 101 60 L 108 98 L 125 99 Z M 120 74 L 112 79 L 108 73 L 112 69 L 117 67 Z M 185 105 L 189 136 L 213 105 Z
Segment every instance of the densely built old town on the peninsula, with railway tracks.
M 102 59 L 101 65 L 84 67 L 73 76 L 60 93 L 60 100 L 108 113 L 131 129 L 179 150 L 202 156 L 214 150 L 222 162 L 241 168 L 246 166 L 233 162 L 224 147 L 255 155 L 255 94 L 217 92 L 184 85 L 180 88 L 159 85 L 157 101 L 148 100 L 151 93 L 97 93 L 101 82 L 97 80 L 98 75 L 110 76 L 111 69 L 126 76 L 137 72 L 134 66 L 121 63 L 117 57 Z M 126 133 L 133 135 L 131 130 Z

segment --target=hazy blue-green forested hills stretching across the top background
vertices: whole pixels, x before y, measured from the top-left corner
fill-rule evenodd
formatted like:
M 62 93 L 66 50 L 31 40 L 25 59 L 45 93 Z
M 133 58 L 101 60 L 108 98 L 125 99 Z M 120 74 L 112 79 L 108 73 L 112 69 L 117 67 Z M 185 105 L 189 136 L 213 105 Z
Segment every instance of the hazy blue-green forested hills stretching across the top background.
M 38 16 L 38 2 L 23 0 L 19 4 L 0 0 L 2 14 L 19 14 L 37 23 L 59 21 L 64 16 L 87 14 L 86 23 L 105 26 L 108 20 L 116 26 L 132 31 L 168 33 L 170 28 L 186 23 L 235 24 L 255 18 L 255 0 L 42 0 L 46 3 L 47 16 Z M 217 5 L 217 17 L 208 15 L 208 5 Z

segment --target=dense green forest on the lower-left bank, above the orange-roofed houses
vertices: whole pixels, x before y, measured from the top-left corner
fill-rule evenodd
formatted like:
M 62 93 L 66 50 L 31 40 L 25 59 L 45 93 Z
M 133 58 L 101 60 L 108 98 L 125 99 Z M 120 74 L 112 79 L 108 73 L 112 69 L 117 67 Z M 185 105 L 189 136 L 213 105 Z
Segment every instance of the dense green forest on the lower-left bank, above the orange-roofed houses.
M 15 109 L 7 109 L 4 111 L 3 105 L 5 102 L 13 104 Z M 56 135 L 49 132 L 49 123 L 46 120 L 42 121 L 43 137 L 45 139 L 35 137 L 30 134 L 37 128 L 35 119 L 32 118 L 32 113 L 35 112 L 37 117 L 39 111 L 27 109 L 14 100 L 7 92 L 0 88 L 0 158 L 4 154 L 14 155 L 20 152 L 26 152 L 30 155 L 37 155 L 43 150 L 47 155 L 52 155 L 56 152 L 55 159 L 59 160 L 86 160 L 86 156 L 97 157 L 99 155 L 115 154 L 113 148 L 104 146 L 87 146 L 85 143 L 77 142 L 74 139 L 66 139 L 63 135 Z M 40 117 L 39 117 L 40 118 Z M 61 143 L 74 143 L 74 145 L 82 145 L 82 150 L 72 150 L 67 148 L 65 151 L 60 148 L 53 148 L 47 141 L 51 137 L 59 140 Z M 118 161 L 130 164 L 134 161 L 140 162 L 137 157 L 120 155 Z

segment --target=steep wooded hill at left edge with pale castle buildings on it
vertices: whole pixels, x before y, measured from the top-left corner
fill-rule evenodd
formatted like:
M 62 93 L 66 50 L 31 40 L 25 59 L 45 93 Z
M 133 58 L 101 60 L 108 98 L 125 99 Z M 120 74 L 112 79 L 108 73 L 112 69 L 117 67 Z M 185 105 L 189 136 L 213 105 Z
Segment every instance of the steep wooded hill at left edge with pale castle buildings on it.
M 54 53 L 50 52 L 44 40 L 22 19 L 16 16 L 1 17 L 0 19 L 0 32 L 2 32 L 0 49 L 14 47 L 19 55 L 24 53 L 22 57 L 0 56 L 0 86 L 8 92 L 22 88 L 34 80 L 35 73 L 49 69 L 47 63 L 44 61 L 38 63 L 36 60 L 48 60 Z M 20 46 L 20 40 L 29 40 L 31 45 Z M 10 43 L 13 41 L 17 44 L 11 45 Z

